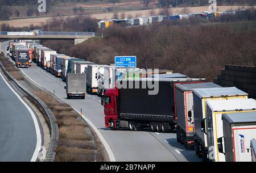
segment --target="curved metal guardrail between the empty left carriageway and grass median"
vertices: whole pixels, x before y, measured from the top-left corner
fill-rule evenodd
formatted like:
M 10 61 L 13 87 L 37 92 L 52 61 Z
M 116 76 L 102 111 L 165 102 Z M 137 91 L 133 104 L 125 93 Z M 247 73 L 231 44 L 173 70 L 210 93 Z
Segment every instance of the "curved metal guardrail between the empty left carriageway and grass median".
M 0 67 L 3 70 L 3 73 L 5 73 L 6 77 L 9 78 L 10 81 L 13 81 L 15 86 L 18 86 L 20 88 L 24 95 L 28 96 L 29 98 L 32 99 L 32 102 L 34 101 L 34 104 L 38 106 L 40 110 L 42 110 L 43 115 L 47 116 L 47 123 L 50 128 L 50 133 L 51 133 L 51 141 L 50 145 L 46 154 L 46 159 L 44 160 L 45 162 L 54 162 L 55 157 L 56 157 L 56 147 L 57 147 L 57 141 L 59 140 L 59 127 L 56 123 L 55 116 L 53 116 L 51 109 L 47 107 L 47 105 L 39 99 L 37 96 L 32 94 L 32 92 L 28 91 L 27 88 L 23 87 L 20 85 L 18 81 L 14 77 L 11 76 L 11 74 L 5 69 L 3 66 L 2 62 L 0 62 Z M 30 99 L 30 100 L 31 100 Z

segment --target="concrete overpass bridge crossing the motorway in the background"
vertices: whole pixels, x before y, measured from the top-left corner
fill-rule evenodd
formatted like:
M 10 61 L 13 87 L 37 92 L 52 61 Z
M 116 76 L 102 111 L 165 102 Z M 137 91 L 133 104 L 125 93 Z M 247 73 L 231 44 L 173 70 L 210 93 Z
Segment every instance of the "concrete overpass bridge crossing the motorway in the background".
M 0 32 L 0 40 L 74 40 L 75 45 L 94 36 L 94 32 Z

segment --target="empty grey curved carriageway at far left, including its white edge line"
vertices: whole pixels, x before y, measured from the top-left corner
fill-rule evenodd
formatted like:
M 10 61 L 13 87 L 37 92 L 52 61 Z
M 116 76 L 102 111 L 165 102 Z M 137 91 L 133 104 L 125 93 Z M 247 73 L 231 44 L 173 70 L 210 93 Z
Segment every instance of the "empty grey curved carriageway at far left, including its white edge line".
M 41 142 L 34 113 L 0 73 L 0 161 L 36 161 Z

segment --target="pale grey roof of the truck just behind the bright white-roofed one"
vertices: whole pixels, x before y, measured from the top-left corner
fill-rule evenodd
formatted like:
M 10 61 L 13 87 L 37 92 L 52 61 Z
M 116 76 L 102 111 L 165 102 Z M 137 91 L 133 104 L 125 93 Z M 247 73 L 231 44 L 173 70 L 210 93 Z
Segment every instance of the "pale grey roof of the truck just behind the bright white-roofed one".
M 196 88 L 193 89 L 193 92 L 200 96 L 200 98 L 219 98 L 223 96 L 248 95 L 246 92 L 243 92 L 236 87 Z

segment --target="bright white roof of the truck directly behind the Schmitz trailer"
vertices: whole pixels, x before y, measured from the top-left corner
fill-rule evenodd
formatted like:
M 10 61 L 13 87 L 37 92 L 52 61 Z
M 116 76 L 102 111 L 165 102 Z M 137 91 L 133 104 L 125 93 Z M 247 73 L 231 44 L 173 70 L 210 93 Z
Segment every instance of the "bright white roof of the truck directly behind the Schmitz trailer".
M 207 100 L 207 104 L 213 112 L 256 109 L 254 99 Z

